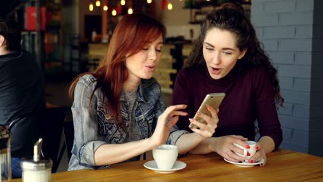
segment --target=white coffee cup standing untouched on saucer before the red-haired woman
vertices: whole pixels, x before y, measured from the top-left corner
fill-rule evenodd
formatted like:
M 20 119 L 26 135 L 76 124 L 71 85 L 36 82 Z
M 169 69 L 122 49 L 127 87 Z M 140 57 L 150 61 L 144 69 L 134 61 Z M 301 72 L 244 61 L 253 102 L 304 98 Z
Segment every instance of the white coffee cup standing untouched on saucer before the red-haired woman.
M 173 168 L 178 156 L 176 145 L 160 145 L 153 149 L 153 157 L 160 170 L 170 170 Z

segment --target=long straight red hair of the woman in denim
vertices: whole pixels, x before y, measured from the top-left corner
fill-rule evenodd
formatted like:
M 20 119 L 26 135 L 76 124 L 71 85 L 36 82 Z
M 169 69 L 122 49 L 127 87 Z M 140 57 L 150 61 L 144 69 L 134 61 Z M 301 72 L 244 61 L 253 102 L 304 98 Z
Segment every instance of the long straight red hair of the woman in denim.
M 97 78 L 95 90 L 101 88 L 104 92 L 102 99 L 104 97 L 108 99 L 108 108 L 105 109 L 114 117 L 118 129 L 120 126 L 123 128 L 119 114 L 119 98 L 124 82 L 128 79 L 126 58 L 139 52 L 148 43 L 155 41 L 160 34 L 164 39 L 166 28 L 156 19 L 139 13 L 126 15 L 119 21 L 112 34 L 106 57 L 95 71 L 79 74 L 72 81 L 68 90 L 69 97 L 73 99 L 79 78 L 84 74 L 92 74 Z M 90 101 L 92 101 L 95 90 L 92 92 Z

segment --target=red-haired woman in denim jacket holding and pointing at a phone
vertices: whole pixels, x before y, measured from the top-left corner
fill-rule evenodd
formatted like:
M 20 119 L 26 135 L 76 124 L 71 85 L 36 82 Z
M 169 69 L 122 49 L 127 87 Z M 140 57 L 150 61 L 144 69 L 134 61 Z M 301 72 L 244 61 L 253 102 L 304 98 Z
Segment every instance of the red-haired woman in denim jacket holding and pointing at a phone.
M 184 154 L 215 132 L 217 119 L 206 115 L 206 125 L 192 121 L 202 130 L 178 130 L 175 123 L 186 115 L 180 111 L 186 105 L 166 108 L 153 79 L 165 34 L 159 21 L 144 14 L 127 15 L 118 23 L 97 70 L 72 82 L 75 139 L 68 170 L 139 160 L 140 154 L 165 142 Z

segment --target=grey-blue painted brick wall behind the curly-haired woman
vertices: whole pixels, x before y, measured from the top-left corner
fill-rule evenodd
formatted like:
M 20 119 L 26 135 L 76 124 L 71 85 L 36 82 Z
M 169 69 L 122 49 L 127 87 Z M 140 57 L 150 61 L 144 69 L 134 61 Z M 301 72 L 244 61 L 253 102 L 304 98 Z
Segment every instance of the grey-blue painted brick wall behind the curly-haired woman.
M 280 148 L 323 156 L 323 1 L 254 0 L 251 21 L 278 69 Z

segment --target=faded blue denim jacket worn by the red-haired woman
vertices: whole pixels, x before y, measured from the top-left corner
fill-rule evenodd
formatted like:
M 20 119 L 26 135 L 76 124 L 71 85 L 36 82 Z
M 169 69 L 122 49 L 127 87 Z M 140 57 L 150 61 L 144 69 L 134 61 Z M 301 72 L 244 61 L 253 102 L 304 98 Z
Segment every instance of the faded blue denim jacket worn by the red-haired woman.
M 95 90 L 92 101 L 90 97 L 96 85 L 96 78 L 91 74 L 81 77 L 75 87 L 72 115 L 75 138 L 68 170 L 109 168 L 109 165 L 95 165 L 94 154 L 97 148 L 104 144 L 124 143 L 126 133 L 117 130 L 114 119 L 104 108 L 107 99 L 102 100 L 103 92 Z M 135 119 L 129 121 L 128 102 L 121 92 L 119 99 L 122 122 L 126 128 L 130 122 L 137 122 L 142 139 L 150 137 L 156 127 L 159 115 L 166 109 L 159 83 L 155 79 L 141 79 L 138 88 L 138 98 L 133 106 Z M 90 104 L 90 107 L 89 107 Z M 179 131 L 175 125 L 166 143 L 175 145 L 179 136 L 188 133 Z

